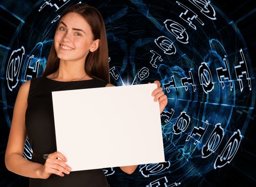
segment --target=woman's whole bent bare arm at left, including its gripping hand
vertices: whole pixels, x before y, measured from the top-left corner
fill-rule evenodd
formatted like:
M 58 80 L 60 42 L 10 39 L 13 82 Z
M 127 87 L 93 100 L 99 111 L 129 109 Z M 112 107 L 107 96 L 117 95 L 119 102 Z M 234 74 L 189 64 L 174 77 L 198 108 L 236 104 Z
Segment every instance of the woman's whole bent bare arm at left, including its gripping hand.
M 25 113 L 30 81 L 21 85 L 13 110 L 12 124 L 5 151 L 5 166 L 8 170 L 18 175 L 30 178 L 48 178 L 51 174 L 64 176 L 69 174 L 71 168 L 66 163 L 67 159 L 60 152 L 49 154 L 45 164 L 32 162 L 23 157 L 26 140 Z M 56 158 L 60 158 L 56 159 Z

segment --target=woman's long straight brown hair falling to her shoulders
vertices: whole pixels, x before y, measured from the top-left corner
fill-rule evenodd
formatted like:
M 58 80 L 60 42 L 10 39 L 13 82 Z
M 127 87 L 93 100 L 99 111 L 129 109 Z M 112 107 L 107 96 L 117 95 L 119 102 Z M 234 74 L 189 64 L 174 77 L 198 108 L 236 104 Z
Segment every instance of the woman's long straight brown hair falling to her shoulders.
M 75 12 L 82 15 L 82 17 L 86 19 L 86 21 L 91 27 L 92 34 L 94 35 L 93 40 L 99 39 L 99 48 L 94 52 L 89 51 L 86 57 L 84 70 L 89 76 L 102 79 L 109 83 L 110 74 L 108 65 L 107 37 L 102 15 L 99 13 L 97 9 L 95 9 L 95 7 L 82 3 L 69 6 L 60 16 L 59 21 L 61 18 L 64 17 L 64 15 L 66 15 L 69 12 Z M 56 72 L 58 68 L 59 58 L 57 57 L 57 53 L 55 51 L 55 46 L 53 42 L 43 76 L 47 76 Z

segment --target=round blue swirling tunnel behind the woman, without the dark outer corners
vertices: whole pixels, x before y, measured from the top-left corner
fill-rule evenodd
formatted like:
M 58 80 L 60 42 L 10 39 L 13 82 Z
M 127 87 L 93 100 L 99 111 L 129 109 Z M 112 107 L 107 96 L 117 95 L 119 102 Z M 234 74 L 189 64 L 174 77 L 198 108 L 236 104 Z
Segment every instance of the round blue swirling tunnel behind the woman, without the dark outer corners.
M 82 2 L 103 15 L 111 82 L 159 80 L 168 96 L 161 114 L 166 162 L 139 165 L 132 182 L 118 168 L 104 168 L 111 186 L 189 186 L 191 177 L 229 164 L 250 121 L 255 81 L 236 24 L 206 0 L 38 1 L 6 46 L 1 87 L 7 124 L 20 85 L 44 71 L 61 12 Z M 24 157 L 30 159 L 28 141 Z

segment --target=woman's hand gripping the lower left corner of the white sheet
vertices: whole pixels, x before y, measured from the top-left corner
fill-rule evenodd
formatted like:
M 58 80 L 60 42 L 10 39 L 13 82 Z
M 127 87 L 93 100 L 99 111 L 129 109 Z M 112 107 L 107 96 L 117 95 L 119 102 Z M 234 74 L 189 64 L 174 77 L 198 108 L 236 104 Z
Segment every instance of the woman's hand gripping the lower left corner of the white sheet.
M 61 160 L 57 158 L 60 158 Z M 68 175 L 71 171 L 71 167 L 66 165 L 66 161 L 66 157 L 58 151 L 49 154 L 40 171 L 42 178 L 46 179 L 51 174 L 56 174 L 62 177 L 64 176 L 63 173 Z

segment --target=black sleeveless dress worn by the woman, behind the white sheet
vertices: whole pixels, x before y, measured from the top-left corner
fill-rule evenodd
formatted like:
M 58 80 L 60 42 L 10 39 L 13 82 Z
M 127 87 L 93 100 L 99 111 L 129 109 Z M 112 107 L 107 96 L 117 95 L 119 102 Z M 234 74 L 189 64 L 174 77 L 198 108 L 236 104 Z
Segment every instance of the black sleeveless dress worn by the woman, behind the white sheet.
M 105 87 L 106 84 L 107 82 L 98 79 L 61 82 L 48 79 L 47 77 L 37 77 L 30 81 L 26 111 L 26 130 L 30 146 L 33 150 L 33 162 L 44 164 L 43 154 L 57 151 L 51 92 Z M 29 178 L 29 186 L 110 186 L 107 183 L 103 169 L 82 170 L 64 175 L 64 177 L 61 177 L 51 174 L 48 179 Z

